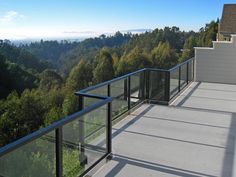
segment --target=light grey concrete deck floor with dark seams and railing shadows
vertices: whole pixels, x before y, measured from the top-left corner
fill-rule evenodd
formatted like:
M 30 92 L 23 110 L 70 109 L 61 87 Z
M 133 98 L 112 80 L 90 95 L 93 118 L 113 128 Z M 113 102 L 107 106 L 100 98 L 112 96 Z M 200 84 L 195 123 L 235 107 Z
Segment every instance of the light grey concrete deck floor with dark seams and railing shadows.
M 233 177 L 235 135 L 236 85 L 192 83 L 171 106 L 144 104 L 114 126 L 114 157 L 94 176 Z

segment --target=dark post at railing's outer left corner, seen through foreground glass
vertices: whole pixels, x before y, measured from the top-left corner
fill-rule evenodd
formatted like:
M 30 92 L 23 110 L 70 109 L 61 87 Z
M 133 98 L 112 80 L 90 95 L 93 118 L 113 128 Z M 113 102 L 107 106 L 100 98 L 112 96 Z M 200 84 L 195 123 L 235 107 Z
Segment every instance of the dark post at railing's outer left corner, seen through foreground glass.
M 84 99 L 82 95 L 79 95 L 79 111 L 83 110 L 84 107 Z M 85 155 L 85 147 L 84 147 L 84 116 L 79 119 L 79 142 L 80 142 L 80 154 L 79 161 L 80 165 L 83 167 L 87 164 L 87 157 Z

